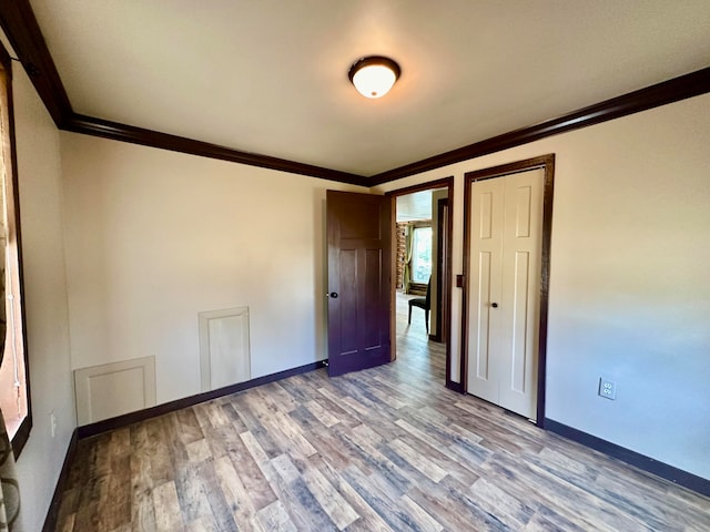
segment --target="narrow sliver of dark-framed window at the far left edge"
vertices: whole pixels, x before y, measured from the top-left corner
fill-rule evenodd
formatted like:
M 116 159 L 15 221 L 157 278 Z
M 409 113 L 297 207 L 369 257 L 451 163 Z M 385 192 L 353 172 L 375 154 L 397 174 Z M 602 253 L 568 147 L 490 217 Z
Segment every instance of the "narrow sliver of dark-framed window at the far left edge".
M 0 260 L 0 279 L 3 280 L 6 295 L 4 308 L 0 307 L 0 319 L 7 324 L 4 354 L 0 365 L 0 408 L 17 458 L 30 434 L 32 416 L 22 308 L 20 215 L 11 79 L 10 55 L 0 45 L 0 246 L 4 250 L 4 260 Z

